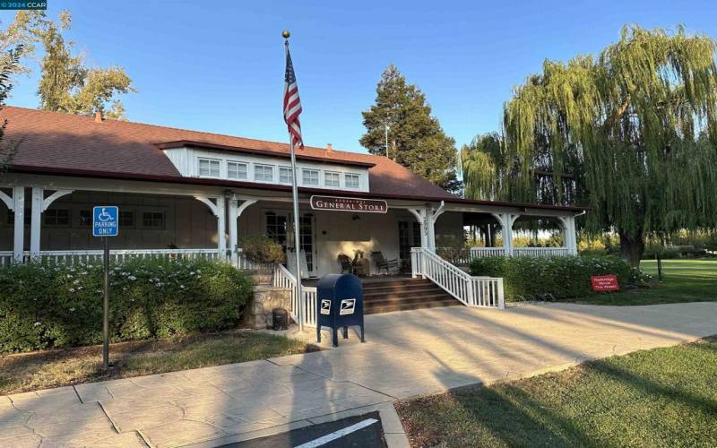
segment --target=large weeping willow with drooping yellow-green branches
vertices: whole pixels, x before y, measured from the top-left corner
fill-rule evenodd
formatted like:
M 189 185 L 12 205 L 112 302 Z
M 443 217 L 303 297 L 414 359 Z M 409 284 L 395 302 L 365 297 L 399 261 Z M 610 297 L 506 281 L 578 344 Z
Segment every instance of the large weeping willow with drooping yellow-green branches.
M 597 58 L 546 61 L 505 103 L 511 194 L 587 205 L 587 228 L 617 231 L 633 265 L 646 237 L 715 228 L 714 50 L 681 27 L 633 26 Z

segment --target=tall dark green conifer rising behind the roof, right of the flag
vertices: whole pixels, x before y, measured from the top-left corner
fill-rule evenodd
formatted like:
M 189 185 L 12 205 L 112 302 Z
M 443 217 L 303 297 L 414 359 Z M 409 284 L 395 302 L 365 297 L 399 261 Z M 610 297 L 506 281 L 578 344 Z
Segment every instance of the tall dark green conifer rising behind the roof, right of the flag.
M 457 191 L 456 151 L 453 138 L 445 135 L 426 95 L 395 65 L 389 65 L 376 87 L 376 103 L 362 112 L 364 134 L 360 143 L 372 154 L 385 156 L 448 191 Z M 388 148 L 385 126 L 389 126 Z

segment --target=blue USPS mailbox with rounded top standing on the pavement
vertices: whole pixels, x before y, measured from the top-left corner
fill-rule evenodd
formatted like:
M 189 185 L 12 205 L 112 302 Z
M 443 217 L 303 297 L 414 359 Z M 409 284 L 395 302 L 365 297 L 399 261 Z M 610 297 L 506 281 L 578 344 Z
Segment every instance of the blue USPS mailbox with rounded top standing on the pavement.
M 329 327 L 333 334 L 333 347 L 339 346 L 338 330 L 343 328 L 343 339 L 349 337 L 349 326 L 361 327 L 364 342 L 364 293 L 361 280 L 352 274 L 328 274 L 316 284 L 318 311 L 316 340 L 321 342 L 321 327 Z

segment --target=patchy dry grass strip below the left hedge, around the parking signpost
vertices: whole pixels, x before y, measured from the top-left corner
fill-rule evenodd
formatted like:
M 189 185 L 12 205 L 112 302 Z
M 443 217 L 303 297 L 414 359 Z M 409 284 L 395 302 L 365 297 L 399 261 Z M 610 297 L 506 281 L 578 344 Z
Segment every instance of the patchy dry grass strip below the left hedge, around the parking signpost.
M 229 332 L 112 344 L 113 368 L 102 369 L 102 347 L 56 349 L 0 358 L 0 395 L 77 383 L 161 374 L 281 357 L 318 348 L 262 332 Z

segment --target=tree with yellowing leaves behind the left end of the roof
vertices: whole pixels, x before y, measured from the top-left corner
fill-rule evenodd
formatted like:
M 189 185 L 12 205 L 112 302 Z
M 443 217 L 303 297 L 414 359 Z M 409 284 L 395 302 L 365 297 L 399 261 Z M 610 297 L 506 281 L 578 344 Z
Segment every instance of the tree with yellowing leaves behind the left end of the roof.
M 40 108 L 92 115 L 102 111 L 106 116 L 125 118 L 125 107 L 117 94 L 136 91 L 122 67 L 89 68 L 82 56 L 72 56 L 72 42 L 65 42 L 63 30 L 70 26 L 69 13 L 59 25 L 51 23 L 41 33 L 45 46 L 38 95 Z

